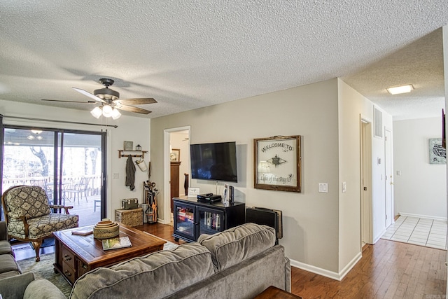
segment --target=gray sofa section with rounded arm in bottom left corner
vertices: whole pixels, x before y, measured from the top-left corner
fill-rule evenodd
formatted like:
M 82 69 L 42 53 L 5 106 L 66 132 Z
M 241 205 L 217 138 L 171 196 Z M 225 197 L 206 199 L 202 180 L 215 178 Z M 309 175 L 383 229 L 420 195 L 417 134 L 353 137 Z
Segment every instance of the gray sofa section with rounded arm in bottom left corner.
M 0 221 L 0 295 L 2 298 L 60 299 L 65 298 L 54 284 L 46 279 L 34 280 L 31 272 L 22 274 L 8 242 L 6 223 Z

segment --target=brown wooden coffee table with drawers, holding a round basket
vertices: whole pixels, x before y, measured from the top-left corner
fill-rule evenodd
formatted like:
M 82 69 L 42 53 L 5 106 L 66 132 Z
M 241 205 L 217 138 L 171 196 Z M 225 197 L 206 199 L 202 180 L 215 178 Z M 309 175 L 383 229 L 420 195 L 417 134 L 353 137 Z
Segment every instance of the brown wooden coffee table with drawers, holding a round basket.
M 163 249 L 164 239 L 120 223 L 119 237 L 129 237 L 132 246 L 103 250 L 102 240 L 87 236 L 72 235 L 72 228 L 53 232 L 55 237 L 55 272 L 60 272 L 73 285 L 85 272 L 97 267 L 109 267 L 123 260 Z

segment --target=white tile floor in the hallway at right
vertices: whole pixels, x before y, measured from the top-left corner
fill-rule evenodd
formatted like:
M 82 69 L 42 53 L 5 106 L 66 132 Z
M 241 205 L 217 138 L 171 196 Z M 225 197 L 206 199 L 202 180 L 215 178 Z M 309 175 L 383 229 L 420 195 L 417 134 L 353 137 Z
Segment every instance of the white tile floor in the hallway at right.
M 400 216 L 381 239 L 447 250 L 447 221 Z

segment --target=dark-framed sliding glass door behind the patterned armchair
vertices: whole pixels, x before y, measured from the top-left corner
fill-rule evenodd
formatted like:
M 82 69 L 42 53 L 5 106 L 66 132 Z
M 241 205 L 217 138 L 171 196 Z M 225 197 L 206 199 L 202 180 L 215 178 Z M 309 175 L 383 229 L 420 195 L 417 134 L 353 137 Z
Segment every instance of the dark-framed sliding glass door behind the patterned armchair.
M 105 147 L 105 133 L 5 125 L 2 193 L 11 186 L 41 186 L 50 202 L 73 207 L 80 226 L 97 223 L 106 210 Z

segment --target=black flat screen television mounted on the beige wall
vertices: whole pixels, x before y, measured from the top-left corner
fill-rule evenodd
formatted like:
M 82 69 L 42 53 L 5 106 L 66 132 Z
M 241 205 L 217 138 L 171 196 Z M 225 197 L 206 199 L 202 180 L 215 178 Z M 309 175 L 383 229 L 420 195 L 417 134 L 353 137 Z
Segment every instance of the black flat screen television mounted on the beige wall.
M 238 181 L 235 141 L 190 144 L 190 162 L 192 179 Z

